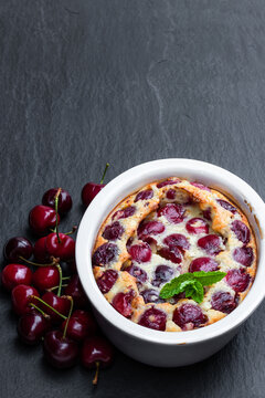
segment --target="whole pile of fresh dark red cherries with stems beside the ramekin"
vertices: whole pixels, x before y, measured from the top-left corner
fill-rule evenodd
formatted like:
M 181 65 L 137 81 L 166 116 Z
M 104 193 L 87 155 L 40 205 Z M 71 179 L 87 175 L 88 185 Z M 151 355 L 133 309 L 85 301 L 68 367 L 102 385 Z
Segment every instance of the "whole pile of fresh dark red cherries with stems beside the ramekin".
M 84 186 L 85 207 L 104 187 L 103 179 Z M 98 328 L 76 273 L 75 241 L 71 237 L 76 227 L 59 232 L 60 221 L 72 205 L 64 189 L 52 188 L 43 195 L 42 205 L 29 214 L 29 226 L 38 240 L 34 245 L 23 237 L 6 242 L 7 265 L 1 282 L 11 293 L 12 310 L 19 316 L 20 339 L 28 345 L 42 344 L 44 357 L 56 368 L 72 367 L 78 360 L 86 368 L 95 368 L 96 385 L 98 370 L 112 363 L 114 349 Z M 65 265 L 71 270 L 67 275 Z

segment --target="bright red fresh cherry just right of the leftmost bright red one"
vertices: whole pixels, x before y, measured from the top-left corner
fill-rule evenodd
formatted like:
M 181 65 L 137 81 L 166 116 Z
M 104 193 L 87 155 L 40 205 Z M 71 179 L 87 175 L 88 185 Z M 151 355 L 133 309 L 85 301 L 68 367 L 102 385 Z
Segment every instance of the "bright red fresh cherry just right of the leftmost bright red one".
M 59 270 L 54 265 L 40 266 L 33 273 L 32 283 L 40 292 L 57 286 L 59 282 Z

